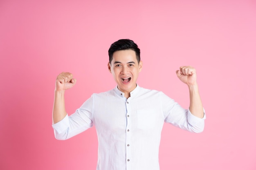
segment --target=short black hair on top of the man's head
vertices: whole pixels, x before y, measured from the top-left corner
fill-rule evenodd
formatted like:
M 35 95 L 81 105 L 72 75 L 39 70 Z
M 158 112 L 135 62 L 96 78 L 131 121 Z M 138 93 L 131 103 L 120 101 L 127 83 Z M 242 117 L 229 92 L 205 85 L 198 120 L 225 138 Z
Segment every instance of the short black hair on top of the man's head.
M 108 50 L 108 56 L 109 56 L 109 62 L 111 64 L 111 61 L 113 59 L 113 53 L 120 50 L 133 50 L 136 53 L 136 59 L 138 63 L 140 62 L 140 49 L 138 48 L 137 44 L 129 39 L 121 39 L 113 44 L 111 44 L 109 50 Z

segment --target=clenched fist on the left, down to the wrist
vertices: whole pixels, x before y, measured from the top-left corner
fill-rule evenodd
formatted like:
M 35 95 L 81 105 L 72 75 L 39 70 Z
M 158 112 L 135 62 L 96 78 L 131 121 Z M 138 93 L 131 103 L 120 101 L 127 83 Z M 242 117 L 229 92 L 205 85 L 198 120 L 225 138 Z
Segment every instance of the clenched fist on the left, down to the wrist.
M 65 91 L 72 88 L 76 84 L 76 79 L 68 72 L 62 72 L 58 75 L 55 84 L 55 91 Z

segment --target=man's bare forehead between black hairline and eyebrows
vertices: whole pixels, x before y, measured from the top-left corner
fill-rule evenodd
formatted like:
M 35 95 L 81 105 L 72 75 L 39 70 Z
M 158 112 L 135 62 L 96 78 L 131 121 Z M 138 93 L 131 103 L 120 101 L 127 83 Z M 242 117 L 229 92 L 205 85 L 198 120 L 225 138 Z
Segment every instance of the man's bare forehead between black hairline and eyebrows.
M 119 50 L 113 53 L 112 62 L 135 62 L 137 63 L 136 53 L 134 50 Z

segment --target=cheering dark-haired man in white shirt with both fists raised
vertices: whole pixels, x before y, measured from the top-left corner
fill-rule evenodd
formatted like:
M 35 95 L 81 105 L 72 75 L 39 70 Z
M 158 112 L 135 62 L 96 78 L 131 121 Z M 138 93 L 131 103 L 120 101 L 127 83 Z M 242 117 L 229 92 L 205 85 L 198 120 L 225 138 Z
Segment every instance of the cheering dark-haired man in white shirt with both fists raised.
M 94 125 L 99 140 L 97 170 L 159 170 L 164 121 L 191 132 L 204 128 L 195 68 L 182 66 L 176 71 L 189 87 L 190 105 L 186 110 L 164 93 L 137 85 L 142 62 L 132 40 L 114 42 L 108 53 L 108 70 L 117 86 L 93 94 L 70 116 L 65 111 L 64 93 L 76 84 L 76 79 L 71 73 L 58 75 L 53 108 L 55 137 L 65 140 Z

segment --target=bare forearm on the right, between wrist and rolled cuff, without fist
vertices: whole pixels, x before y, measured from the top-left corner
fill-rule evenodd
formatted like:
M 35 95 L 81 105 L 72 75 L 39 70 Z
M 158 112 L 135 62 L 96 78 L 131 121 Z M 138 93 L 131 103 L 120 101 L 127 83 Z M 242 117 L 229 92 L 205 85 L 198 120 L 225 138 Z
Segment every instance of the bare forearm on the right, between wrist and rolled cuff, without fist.
M 201 97 L 198 91 L 198 84 L 189 85 L 189 97 L 190 97 L 190 112 L 196 117 L 204 117 L 204 109 L 201 101 Z

